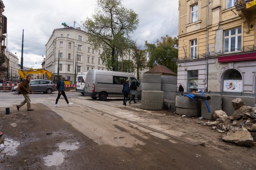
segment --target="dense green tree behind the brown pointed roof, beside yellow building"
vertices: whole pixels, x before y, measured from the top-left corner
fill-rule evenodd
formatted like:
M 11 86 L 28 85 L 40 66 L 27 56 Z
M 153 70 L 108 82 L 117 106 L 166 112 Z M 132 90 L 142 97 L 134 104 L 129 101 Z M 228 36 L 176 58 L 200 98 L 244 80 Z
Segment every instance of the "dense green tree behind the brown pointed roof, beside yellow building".
M 161 37 L 156 45 L 145 42 L 149 56 L 148 67 L 165 65 L 174 73 L 177 73 L 176 59 L 178 59 L 178 38 Z M 154 63 L 154 64 L 153 64 Z

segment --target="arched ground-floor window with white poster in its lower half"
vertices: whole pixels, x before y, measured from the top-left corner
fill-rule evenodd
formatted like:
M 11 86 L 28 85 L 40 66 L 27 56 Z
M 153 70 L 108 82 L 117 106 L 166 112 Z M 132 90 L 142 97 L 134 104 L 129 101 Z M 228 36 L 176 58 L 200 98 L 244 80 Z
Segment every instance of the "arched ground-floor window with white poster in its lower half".
M 232 69 L 224 76 L 223 91 L 242 92 L 242 75 L 239 71 Z

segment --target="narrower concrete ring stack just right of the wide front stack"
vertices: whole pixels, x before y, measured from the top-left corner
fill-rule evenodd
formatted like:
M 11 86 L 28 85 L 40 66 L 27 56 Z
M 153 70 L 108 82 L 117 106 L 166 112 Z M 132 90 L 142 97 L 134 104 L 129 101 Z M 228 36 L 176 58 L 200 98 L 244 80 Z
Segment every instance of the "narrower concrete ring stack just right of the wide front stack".
M 164 91 L 164 109 L 176 111 L 175 100 L 177 91 L 177 76 L 162 75 L 161 91 Z

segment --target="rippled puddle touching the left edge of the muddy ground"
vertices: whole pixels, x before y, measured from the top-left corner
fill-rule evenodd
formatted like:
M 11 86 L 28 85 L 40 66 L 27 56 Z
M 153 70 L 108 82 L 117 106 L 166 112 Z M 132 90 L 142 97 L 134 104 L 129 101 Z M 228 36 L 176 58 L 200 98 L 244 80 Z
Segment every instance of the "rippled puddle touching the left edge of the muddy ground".
M 12 139 L 5 138 L 4 139 L 4 148 L 2 148 L 1 151 L 1 156 L 4 156 L 4 153 L 6 155 L 16 155 L 18 151 L 16 150 L 17 147 L 20 145 L 20 142 L 16 142 Z

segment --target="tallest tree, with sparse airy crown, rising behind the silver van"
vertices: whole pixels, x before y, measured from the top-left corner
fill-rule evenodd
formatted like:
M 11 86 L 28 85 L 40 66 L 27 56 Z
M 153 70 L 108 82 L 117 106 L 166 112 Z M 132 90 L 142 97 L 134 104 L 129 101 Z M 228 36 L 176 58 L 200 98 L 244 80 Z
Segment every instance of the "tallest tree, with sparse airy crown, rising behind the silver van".
M 100 57 L 106 68 L 116 71 L 116 55 L 128 51 L 132 43 L 130 34 L 138 27 L 138 14 L 126 9 L 122 0 L 97 0 L 97 4 L 95 14 L 83 26 L 89 33 L 88 43 L 103 49 Z

